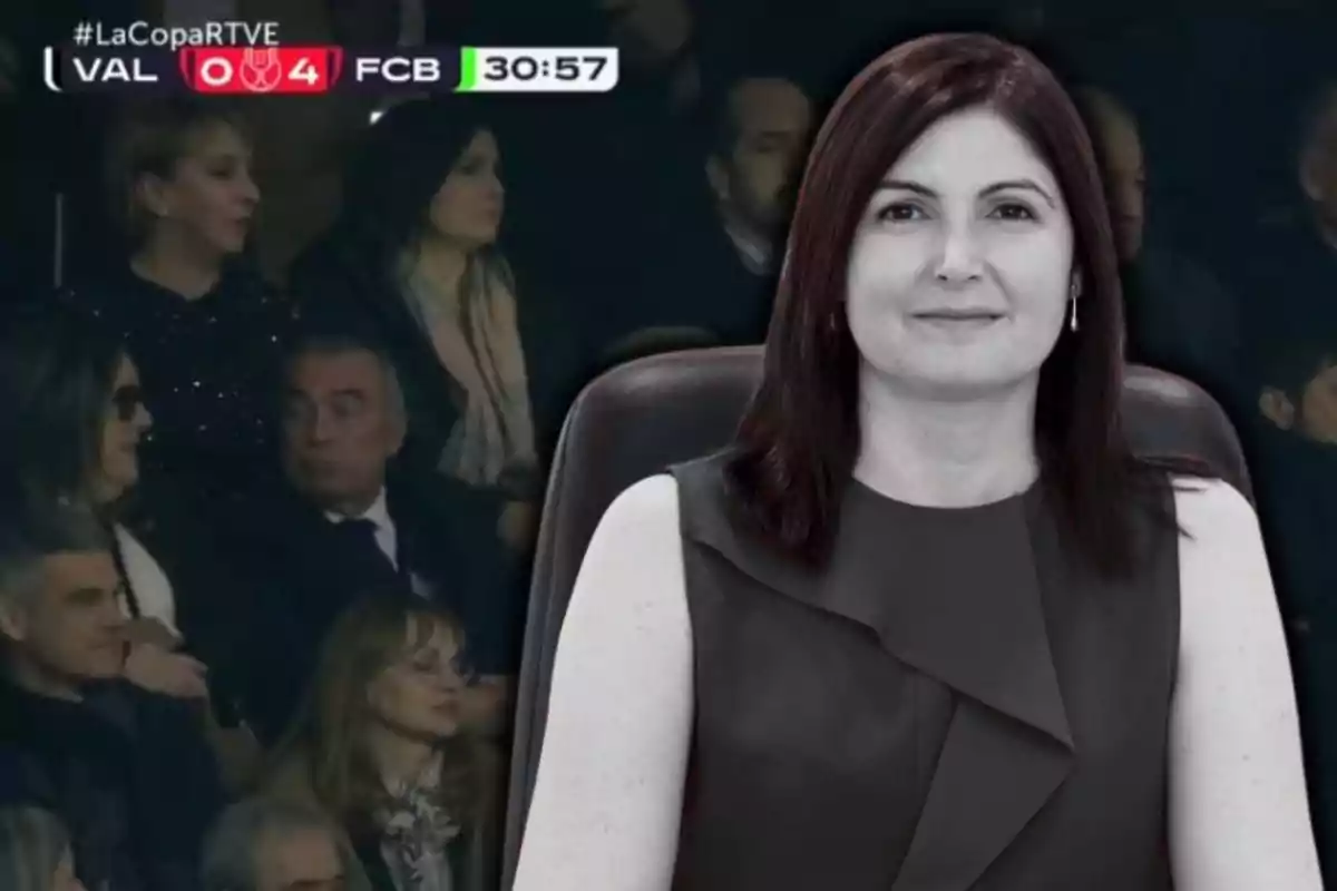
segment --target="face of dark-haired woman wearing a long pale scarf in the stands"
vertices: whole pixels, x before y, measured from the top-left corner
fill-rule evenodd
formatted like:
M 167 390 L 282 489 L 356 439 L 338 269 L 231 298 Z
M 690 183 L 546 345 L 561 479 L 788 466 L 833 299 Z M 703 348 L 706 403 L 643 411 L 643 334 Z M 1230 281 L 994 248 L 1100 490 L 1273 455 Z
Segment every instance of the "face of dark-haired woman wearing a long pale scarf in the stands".
M 496 138 L 480 130 L 464 147 L 428 210 L 436 235 L 476 250 L 496 240 L 505 204 Z

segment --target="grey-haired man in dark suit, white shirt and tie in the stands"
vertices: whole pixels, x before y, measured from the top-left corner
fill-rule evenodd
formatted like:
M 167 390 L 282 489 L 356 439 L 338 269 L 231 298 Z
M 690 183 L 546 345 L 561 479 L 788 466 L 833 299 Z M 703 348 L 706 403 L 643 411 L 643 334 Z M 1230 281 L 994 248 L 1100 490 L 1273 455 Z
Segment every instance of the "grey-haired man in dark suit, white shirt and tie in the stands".
M 365 337 L 306 331 L 287 362 L 281 425 L 285 485 L 238 517 L 239 553 L 269 592 L 253 647 L 263 640 L 265 732 L 291 717 L 336 617 L 369 592 L 417 596 L 460 614 L 479 691 L 500 709 L 504 655 L 523 610 L 499 596 L 505 550 L 491 529 L 495 502 L 457 480 L 405 480 L 393 461 L 406 429 L 394 366 Z M 445 508 L 444 510 L 441 508 Z M 254 653 L 254 649 L 253 649 Z

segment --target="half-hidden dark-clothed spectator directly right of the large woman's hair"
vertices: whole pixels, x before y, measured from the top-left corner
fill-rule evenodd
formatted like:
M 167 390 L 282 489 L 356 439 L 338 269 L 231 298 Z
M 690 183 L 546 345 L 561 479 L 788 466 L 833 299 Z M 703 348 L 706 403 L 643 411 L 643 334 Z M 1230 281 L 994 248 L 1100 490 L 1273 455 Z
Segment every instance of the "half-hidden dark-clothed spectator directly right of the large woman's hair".
M 1123 262 L 1128 354 L 1182 374 L 1231 409 L 1243 382 L 1239 306 L 1206 267 L 1167 243 L 1163 228 L 1147 239 L 1146 159 L 1138 122 L 1112 95 L 1078 94 L 1099 150 L 1116 246 Z M 1238 413 L 1235 413 L 1238 417 Z

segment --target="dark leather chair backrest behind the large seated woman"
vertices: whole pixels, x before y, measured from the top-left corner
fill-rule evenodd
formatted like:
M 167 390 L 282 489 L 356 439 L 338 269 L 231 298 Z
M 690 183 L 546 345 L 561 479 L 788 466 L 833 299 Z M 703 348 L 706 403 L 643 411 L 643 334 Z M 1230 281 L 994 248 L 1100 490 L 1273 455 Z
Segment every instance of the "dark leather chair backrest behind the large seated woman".
M 539 764 L 558 633 L 599 518 L 631 484 L 731 441 L 762 370 L 762 347 L 636 359 L 590 383 L 567 414 L 539 528 L 516 695 L 503 887 L 513 876 Z M 1123 413 L 1132 450 L 1193 457 L 1251 500 L 1238 437 L 1221 406 L 1183 378 L 1128 366 Z

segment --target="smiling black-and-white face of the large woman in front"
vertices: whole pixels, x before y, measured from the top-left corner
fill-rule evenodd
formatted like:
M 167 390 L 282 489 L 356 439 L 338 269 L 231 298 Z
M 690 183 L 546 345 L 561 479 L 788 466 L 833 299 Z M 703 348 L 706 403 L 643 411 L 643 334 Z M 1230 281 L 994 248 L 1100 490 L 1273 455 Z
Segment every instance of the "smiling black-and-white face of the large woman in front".
M 1011 123 L 939 120 L 854 234 L 846 313 L 865 369 L 953 401 L 1036 377 L 1068 311 L 1072 244 L 1059 183 Z

